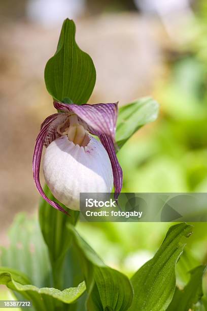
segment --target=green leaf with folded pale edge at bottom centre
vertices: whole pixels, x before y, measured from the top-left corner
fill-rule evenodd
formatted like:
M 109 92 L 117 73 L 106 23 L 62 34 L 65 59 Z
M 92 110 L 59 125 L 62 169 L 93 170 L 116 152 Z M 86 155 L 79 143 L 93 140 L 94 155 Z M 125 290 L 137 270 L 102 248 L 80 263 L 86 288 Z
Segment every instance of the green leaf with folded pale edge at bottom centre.
M 129 308 L 133 290 L 127 276 L 106 266 L 75 228 L 67 226 L 73 235 L 77 256 L 85 275 L 88 310 L 125 311 Z

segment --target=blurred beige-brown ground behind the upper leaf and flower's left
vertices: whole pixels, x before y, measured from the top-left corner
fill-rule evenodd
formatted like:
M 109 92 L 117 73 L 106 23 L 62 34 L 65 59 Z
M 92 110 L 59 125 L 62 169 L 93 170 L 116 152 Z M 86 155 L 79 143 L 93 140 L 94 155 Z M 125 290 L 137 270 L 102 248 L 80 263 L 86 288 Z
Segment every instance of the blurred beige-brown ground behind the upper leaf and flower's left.
M 122 13 L 75 22 L 77 42 L 93 58 L 97 72 L 90 103 L 119 101 L 121 105 L 151 94 L 162 61 L 157 20 Z M 1 244 L 15 213 L 37 210 L 32 152 L 41 122 L 54 113 L 44 67 L 55 52 L 59 32 L 60 28 L 28 22 L 1 26 Z

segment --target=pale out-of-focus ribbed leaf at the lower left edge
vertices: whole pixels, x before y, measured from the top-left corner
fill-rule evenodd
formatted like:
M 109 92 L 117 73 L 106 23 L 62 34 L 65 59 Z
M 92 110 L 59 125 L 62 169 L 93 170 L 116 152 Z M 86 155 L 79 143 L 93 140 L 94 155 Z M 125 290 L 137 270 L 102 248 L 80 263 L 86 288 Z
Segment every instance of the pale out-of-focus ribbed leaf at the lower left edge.
M 52 286 L 49 255 L 37 220 L 18 214 L 9 239 L 9 247 L 1 247 L 0 265 L 29 275 L 37 287 Z

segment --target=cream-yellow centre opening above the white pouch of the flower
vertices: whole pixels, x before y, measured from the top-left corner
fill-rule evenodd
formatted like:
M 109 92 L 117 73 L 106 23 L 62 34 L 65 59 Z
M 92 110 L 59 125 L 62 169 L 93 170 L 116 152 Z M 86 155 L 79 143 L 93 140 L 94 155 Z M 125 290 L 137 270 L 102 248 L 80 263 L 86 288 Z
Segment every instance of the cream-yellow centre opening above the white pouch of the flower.
M 67 135 L 68 140 L 80 147 L 86 147 L 90 141 L 88 133 L 85 128 L 80 125 L 76 114 L 68 115 L 66 121 L 57 127 L 57 133 L 60 135 Z

